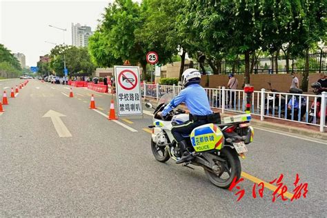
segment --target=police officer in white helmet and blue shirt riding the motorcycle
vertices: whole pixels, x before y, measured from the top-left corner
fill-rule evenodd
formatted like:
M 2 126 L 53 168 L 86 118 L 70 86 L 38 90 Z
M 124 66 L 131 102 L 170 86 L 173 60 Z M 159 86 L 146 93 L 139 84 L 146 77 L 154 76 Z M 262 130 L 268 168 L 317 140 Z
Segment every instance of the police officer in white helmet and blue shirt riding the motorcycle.
M 194 128 L 210 122 L 210 117 L 215 117 L 210 109 L 206 90 L 199 85 L 201 81 L 201 73 L 197 69 L 189 68 L 181 75 L 181 82 L 184 90 L 179 92 L 170 103 L 158 115 L 165 117 L 170 110 L 179 106 L 180 103 L 186 103 L 188 110 L 190 110 L 190 120 L 172 127 L 172 135 L 178 143 L 181 150 L 182 157 L 176 161 L 176 164 L 190 161 L 194 157 L 188 151 L 188 143 L 182 134 L 189 135 Z M 211 115 L 211 116 L 210 116 Z

